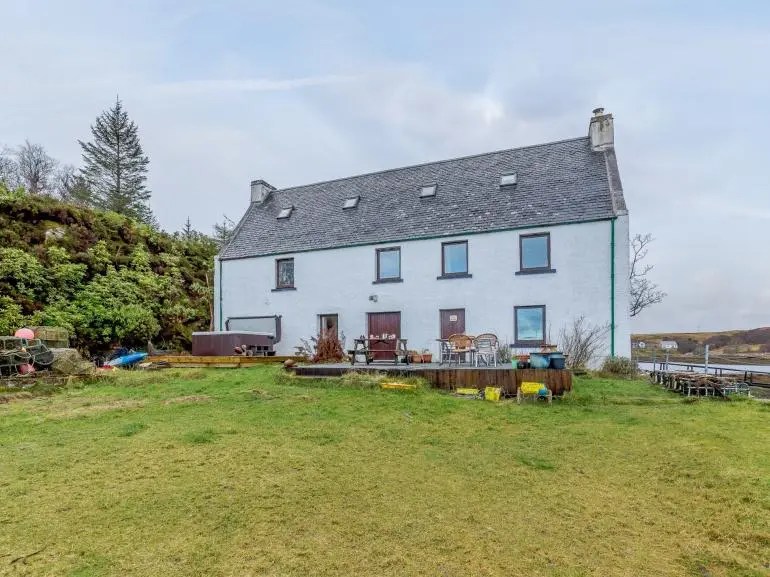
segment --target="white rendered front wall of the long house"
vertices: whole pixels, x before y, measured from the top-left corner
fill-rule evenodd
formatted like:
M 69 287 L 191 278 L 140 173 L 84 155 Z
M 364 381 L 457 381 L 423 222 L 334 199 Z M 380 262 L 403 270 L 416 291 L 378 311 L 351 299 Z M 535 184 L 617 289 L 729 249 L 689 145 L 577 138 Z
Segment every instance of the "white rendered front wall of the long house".
M 216 326 L 223 329 L 228 317 L 282 315 L 277 352 L 287 355 L 301 338 L 317 334 L 320 314 L 339 315 L 349 347 L 352 338 L 367 333 L 366 313 L 400 311 L 401 336 L 408 339 L 409 348 L 436 354 L 440 309 L 464 308 L 468 334 L 493 332 L 513 343 L 514 306 L 546 305 L 546 336 L 558 343 L 561 328 L 580 315 L 591 323 L 610 324 L 610 226 L 610 221 L 598 221 L 224 260 Z M 620 217 L 615 226 L 615 352 L 628 356 L 628 218 Z M 515 275 L 518 237 L 536 232 L 551 233 L 551 266 L 556 272 Z M 441 243 L 450 240 L 468 241 L 472 278 L 437 280 Z M 391 246 L 401 247 L 404 282 L 373 284 L 375 249 Z M 294 258 L 296 290 L 273 291 L 275 260 L 287 257 Z M 609 336 L 603 354 L 609 354 Z

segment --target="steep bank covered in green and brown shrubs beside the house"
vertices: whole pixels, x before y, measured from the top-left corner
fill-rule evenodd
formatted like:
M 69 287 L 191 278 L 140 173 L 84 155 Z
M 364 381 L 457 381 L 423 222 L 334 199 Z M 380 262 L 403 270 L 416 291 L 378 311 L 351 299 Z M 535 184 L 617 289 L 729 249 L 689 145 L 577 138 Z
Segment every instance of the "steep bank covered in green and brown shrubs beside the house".
M 216 252 L 200 233 L 0 185 L 0 335 L 51 325 L 90 352 L 147 339 L 186 347 L 209 326 Z

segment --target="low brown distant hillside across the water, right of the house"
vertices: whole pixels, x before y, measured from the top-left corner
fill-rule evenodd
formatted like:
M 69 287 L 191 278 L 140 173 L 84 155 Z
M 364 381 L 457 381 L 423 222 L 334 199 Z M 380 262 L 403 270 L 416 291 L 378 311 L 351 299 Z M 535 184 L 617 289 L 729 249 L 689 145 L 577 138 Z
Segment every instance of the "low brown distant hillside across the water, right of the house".
M 705 345 L 715 354 L 766 354 L 770 353 L 770 327 L 750 330 L 700 333 L 650 333 L 631 336 L 636 344 L 644 342 L 647 348 L 654 348 L 661 341 L 676 341 L 678 352 L 702 353 Z

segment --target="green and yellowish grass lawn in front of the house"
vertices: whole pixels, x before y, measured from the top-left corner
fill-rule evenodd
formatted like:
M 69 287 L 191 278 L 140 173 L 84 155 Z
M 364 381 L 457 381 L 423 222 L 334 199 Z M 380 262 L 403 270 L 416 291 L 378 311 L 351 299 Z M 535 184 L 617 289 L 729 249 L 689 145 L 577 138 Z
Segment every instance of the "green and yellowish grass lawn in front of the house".
M 768 574 L 770 405 L 372 384 L 168 370 L 0 404 L 0 575 Z

